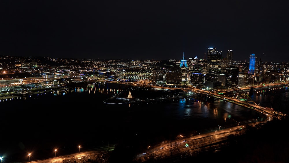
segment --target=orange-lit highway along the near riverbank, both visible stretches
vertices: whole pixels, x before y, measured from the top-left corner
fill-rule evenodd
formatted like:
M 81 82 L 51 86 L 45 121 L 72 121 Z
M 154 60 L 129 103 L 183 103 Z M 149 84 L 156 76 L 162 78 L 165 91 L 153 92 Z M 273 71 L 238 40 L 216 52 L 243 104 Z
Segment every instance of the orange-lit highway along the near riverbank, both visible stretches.
M 248 120 L 240 122 L 236 126 L 219 127 L 218 129 L 211 129 L 210 132 L 199 133 L 195 136 L 184 138 L 182 135 L 179 139 L 172 142 L 163 142 L 158 146 L 148 146 L 147 150 L 136 154 L 135 160 L 147 160 L 148 158 L 166 158 L 170 156 L 188 155 L 193 156 L 202 151 L 211 150 L 212 148 L 218 150 L 220 143 L 227 140 L 229 135 L 240 135 L 245 131 L 245 124 L 257 124 L 263 122 L 255 122 Z M 241 129 L 242 128 L 242 129 Z M 62 162 L 86 162 L 87 160 L 96 160 L 100 162 L 108 162 L 107 153 L 114 149 L 114 146 L 103 147 L 99 149 L 91 149 L 87 151 L 80 151 L 68 155 L 58 156 L 55 152 L 55 157 L 50 157 L 42 160 L 31 160 L 34 163 L 62 163 Z M 28 161 L 27 161 L 28 162 Z

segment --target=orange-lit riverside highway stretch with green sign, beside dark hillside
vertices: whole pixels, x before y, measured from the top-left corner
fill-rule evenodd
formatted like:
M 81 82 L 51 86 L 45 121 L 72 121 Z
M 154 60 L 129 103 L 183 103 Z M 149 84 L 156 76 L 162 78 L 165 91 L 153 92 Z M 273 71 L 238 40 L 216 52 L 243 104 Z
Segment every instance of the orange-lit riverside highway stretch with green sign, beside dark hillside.
M 222 141 L 227 140 L 229 135 L 241 135 L 245 131 L 245 124 L 258 124 L 262 122 L 255 122 L 254 120 L 248 120 L 247 122 L 242 122 L 242 126 L 239 123 L 235 127 L 220 127 L 209 133 L 201 133 L 190 137 L 176 139 L 173 142 L 163 143 L 158 146 L 149 146 L 146 151 L 139 153 L 136 156 L 136 160 L 147 160 L 150 157 L 165 158 L 176 155 L 188 155 L 194 156 L 196 153 L 211 150 L 212 148 L 216 151 L 220 146 Z

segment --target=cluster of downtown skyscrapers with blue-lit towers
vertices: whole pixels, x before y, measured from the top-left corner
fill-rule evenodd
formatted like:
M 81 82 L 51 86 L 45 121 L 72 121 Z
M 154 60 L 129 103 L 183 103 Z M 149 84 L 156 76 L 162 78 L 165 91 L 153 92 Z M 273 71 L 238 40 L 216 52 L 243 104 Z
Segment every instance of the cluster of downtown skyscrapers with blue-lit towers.
M 192 85 L 199 89 L 215 89 L 222 86 L 245 87 L 288 81 L 287 64 L 271 64 L 249 54 L 249 62 L 233 60 L 233 50 L 225 57 L 216 47 L 208 47 L 204 59 L 194 58 L 175 61 L 171 67 L 155 67 L 152 71 L 153 85 Z

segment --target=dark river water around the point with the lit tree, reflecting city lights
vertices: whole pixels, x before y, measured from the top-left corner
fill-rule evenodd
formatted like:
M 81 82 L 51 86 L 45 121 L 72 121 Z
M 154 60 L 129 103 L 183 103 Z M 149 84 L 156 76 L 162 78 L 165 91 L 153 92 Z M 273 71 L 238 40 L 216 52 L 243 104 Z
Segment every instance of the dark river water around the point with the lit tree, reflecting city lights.
M 190 137 L 208 129 L 237 125 L 254 119 L 247 108 L 216 100 L 183 98 L 166 102 L 108 105 L 114 94 L 155 98 L 168 91 L 152 91 L 126 85 L 91 84 L 27 98 L 1 100 L 0 156 L 55 155 L 101 145 L 160 143 Z M 261 96 L 258 97 L 262 102 Z M 259 101 L 257 101 L 259 102 Z M 138 142 L 138 143 L 135 143 Z M 61 150 L 60 150 L 61 149 Z

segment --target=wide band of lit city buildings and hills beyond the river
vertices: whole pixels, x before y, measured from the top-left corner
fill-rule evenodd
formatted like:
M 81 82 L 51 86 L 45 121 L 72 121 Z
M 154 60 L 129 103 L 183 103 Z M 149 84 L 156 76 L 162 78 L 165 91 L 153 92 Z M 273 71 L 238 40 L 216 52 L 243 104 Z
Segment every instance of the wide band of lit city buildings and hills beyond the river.
M 249 61 L 234 61 L 233 50 L 227 50 L 224 57 L 216 47 L 208 47 L 201 59 L 186 59 L 183 52 L 180 60 L 164 61 L 0 56 L 0 78 L 9 80 L 3 85 L 24 77 L 45 79 L 42 84 L 62 78 L 125 82 L 148 79 L 152 85 L 190 85 L 199 89 L 289 81 L 289 63 L 263 62 L 255 54 L 247 58 Z

